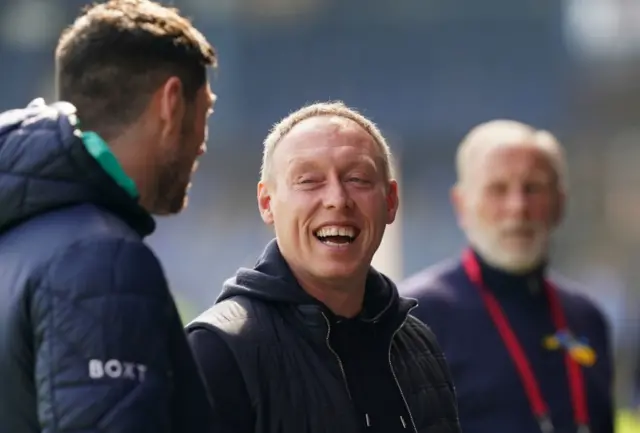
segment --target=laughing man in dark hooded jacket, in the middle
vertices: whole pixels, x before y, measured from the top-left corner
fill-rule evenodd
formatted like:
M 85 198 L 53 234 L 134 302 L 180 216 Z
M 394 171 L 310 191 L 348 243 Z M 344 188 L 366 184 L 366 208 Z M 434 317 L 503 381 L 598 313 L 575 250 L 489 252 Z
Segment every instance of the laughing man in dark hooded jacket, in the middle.
M 377 127 L 342 103 L 289 115 L 258 205 L 275 241 L 188 326 L 225 431 L 459 432 L 433 334 L 371 267 L 398 209 Z

